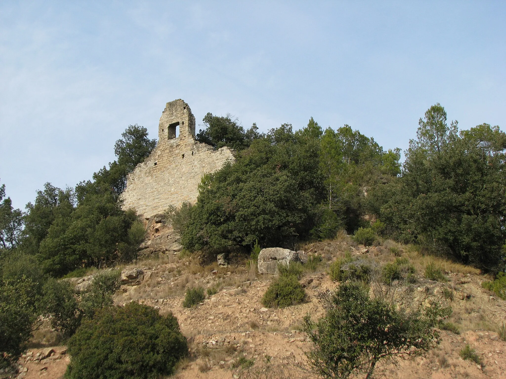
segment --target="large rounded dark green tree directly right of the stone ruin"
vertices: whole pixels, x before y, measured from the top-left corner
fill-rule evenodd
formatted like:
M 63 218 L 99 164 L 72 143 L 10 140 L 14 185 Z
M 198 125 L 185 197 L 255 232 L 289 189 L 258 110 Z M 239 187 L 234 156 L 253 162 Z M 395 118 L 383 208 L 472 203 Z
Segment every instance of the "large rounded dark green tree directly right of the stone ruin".
M 300 143 L 291 125 L 270 130 L 202 185 L 182 243 L 190 250 L 287 244 L 313 226 L 322 197 L 318 143 Z

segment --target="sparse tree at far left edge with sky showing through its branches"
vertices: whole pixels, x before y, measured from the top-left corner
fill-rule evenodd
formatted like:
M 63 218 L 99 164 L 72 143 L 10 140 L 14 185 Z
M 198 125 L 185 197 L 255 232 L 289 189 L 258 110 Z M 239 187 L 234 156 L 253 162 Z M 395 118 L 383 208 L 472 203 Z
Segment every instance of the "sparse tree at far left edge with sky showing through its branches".
M 0 186 L 0 251 L 14 249 L 20 242 L 23 229 L 22 212 L 12 207 L 5 197 L 5 184 Z

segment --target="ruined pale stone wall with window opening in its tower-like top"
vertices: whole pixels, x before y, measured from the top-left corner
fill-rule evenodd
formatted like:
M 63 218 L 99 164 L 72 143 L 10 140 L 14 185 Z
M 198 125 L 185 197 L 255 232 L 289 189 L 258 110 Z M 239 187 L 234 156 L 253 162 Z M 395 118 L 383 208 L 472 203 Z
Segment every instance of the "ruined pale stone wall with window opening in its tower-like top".
M 149 218 L 170 205 L 195 203 L 202 175 L 234 160 L 231 149 L 214 150 L 195 140 L 195 117 L 188 104 L 181 99 L 167 103 L 156 148 L 127 177 L 123 209 L 134 208 L 139 216 Z

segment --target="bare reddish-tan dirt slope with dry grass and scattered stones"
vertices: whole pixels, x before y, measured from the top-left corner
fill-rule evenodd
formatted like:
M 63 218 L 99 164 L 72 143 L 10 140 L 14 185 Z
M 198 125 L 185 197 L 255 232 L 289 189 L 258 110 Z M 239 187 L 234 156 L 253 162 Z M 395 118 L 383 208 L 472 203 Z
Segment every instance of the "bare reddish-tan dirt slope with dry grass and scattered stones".
M 244 258 L 231 257 L 228 267 L 218 267 L 217 263 L 203 267 L 196 259 L 172 252 L 158 260 L 131 265 L 142 267 L 143 280 L 136 281 L 136 286 L 122 286 L 115 303 L 139 301 L 159 309 L 161 314 L 172 312 L 178 318 L 188 338 L 190 356 L 181 362 L 175 378 L 315 377 L 299 367 L 304 365 L 304 352 L 311 348 L 301 327 L 306 314 L 315 319 L 323 314 L 318 292 L 339 285 L 326 273 L 328 265 L 345 251 L 378 264 L 401 255 L 416 267 L 418 281 L 394 283 L 396 302 L 400 307 L 427 305 L 430 300 L 451 305 L 450 321 L 458 326 L 460 334 L 442 330 L 440 344 L 425 357 L 401 361 L 398 367 L 379 367 L 376 375 L 399 379 L 506 378 L 506 342 L 496 333 L 506 320 L 506 301 L 482 289 L 481 282 L 489 278 L 475 268 L 423 256 L 391 241 L 367 251 L 346 237 L 301 248 L 321 255 L 323 261 L 315 271 L 304 273 L 301 283 L 306 286 L 307 295 L 296 306 L 264 308 L 261 299 L 272 277 L 248 269 Z M 424 278 L 425 265 L 430 261 L 445 269 L 447 281 Z M 184 308 L 184 293 L 194 286 L 217 292 L 193 308 Z M 467 344 L 481 357 L 481 365 L 459 357 L 459 351 Z M 62 353 L 64 346 L 53 349 L 55 353 L 41 361 L 33 360 L 41 349 L 29 349 L 28 357 L 19 362 L 28 369 L 22 377 L 61 377 L 69 357 Z

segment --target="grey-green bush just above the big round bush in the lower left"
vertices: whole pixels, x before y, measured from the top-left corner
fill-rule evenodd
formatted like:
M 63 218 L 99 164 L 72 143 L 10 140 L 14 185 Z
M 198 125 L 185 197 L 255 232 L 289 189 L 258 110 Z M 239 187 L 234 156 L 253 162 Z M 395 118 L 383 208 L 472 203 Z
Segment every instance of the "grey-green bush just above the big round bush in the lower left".
M 88 318 L 93 318 L 95 311 L 112 306 L 112 295 L 119 290 L 119 270 L 108 270 L 93 277 L 91 289 L 82 295 L 80 308 Z

